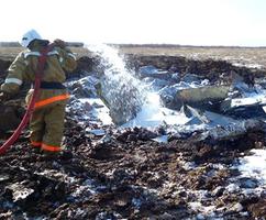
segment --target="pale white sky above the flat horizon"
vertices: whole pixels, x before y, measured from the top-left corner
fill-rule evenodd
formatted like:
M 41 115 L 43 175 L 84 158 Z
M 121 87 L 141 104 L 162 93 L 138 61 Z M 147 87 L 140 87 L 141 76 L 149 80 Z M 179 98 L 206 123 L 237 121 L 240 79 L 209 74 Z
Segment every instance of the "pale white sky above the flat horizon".
M 0 41 L 266 46 L 266 0 L 3 0 Z

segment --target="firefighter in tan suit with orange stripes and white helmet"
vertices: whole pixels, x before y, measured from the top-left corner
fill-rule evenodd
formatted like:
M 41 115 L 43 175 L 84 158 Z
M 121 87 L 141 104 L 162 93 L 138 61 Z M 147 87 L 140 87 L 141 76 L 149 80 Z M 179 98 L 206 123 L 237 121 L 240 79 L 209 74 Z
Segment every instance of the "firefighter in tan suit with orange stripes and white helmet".
M 26 50 L 9 67 L 8 76 L 0 88 L 1 101 L 16 94 L 23 81 L 34 82 L 40 52 L 48 44 L 35 30 L 23 35 L 21 45 Z M 47 54 L 38 98 L 30 120 L 30 141 L 35 150 L 56 155 L 62 152 L 65 108 L 69 98 L 63 85 L 66 79 L 65 70 L 73 72 L 77 63 L 64 41 L 55 40 L 54 44 L 54 48 Z M 33 89 L 30 89 L 26 103 L 32 94 Z

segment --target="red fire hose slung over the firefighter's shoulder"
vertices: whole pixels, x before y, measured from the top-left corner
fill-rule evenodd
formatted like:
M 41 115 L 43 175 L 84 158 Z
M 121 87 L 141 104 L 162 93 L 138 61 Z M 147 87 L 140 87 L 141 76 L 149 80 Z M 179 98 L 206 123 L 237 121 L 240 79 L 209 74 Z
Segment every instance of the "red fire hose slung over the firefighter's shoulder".
M 14 133 L 0 147 L 0 155 L 4 154 L 5 151 L 9 150 L 11 147 L 11 145 L 19 139 L 21 132 L 25 129 L 26 124 L 30 121 L 30 118 L 34 111 L 35 102 L 38 98 L 38 91 L 40 91 L 40 86 L 41 86 L 41 81 L 42 81 L 42 76 L 44 73 L 44 66 L 45 66 L 46 58 L 47 58 L 47 53 L 51 52 L 53 50 L 53 47 L 54 47 L 54 44 L 49 44 L 48 46 L 46 46 L 44 50 L 41 51 L 41 56 L 38 57 L 38 63 L 37 63 L 37 70 L 35 73 L 34 91 L 33 91 L 32 98 L 29 102 L 29 106 L 26 108 L 26 112 L 25 112 L 21 123 L 14 131 Z

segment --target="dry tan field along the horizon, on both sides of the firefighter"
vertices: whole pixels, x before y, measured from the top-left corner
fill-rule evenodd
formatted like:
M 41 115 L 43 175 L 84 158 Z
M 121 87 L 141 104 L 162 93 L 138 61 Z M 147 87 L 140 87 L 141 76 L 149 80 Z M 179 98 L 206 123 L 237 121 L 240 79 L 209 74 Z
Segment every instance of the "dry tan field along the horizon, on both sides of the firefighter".
M 266 68 L 266 47 L 220 47 L 178 45 L 113 45 L 121 54 L 144 56 L 185 56 L 193 59 L 223 59 L 235 65 Z M 12 59 L 22 47 L 0 47 L 0 58 Z M 77 57 L 90 56 L 85 47 L 71 47 Z

